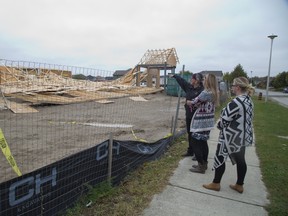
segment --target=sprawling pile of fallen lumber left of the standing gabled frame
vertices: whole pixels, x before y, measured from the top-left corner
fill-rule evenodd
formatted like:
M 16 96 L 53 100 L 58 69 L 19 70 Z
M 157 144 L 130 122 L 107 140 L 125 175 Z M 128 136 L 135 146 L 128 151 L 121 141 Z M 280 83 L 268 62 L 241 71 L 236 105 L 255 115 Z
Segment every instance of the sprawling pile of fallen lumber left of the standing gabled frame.
M 117 80 L 93 82 L 73 79 L 69 71 L 0 66 L 0 91 L 0 107 L 29 113 L 38 112 L 33 105 L 97 101 L 162 89 L 136 86 L 134 69 Z

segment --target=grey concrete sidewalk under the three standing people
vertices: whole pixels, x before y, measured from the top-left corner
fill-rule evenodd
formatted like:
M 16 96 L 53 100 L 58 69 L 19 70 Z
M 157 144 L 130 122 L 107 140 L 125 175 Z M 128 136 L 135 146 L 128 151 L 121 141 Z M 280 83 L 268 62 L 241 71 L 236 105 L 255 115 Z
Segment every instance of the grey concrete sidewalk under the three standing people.
M 214 177 L 212 164 L 216 152 L 219 130 L 211 131 L 208 141 L 209 160 L 205 174 L 189 171 L 196 164 L 191 157 L 182 159 L 170 178 L 169 185 L 161 194 L 156 194 L 144 216 L 191 216 L 191 215 L 268 215 L 264 206 L 269 204 L 267 191 L 262 182 L 259 160 L 255 146 L 246 148 L 247 174 L 243 194 L 230 189 L 236 182 L 236 165 L 226 162 L 226 171 L 219 192 L 207 190 L 203 184 L 210 183 Z

